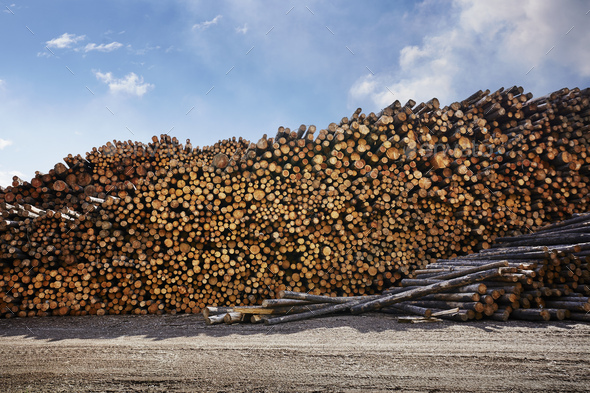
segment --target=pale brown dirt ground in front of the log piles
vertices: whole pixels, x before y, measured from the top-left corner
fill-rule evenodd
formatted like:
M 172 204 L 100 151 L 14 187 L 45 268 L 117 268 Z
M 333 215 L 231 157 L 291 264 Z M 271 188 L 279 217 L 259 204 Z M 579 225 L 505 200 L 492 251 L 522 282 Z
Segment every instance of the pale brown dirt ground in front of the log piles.
M 590 325 L 386 314 L 275 327 L 206 326 L 197 315 L 0 320 L 0 391 L 590 391 Z

